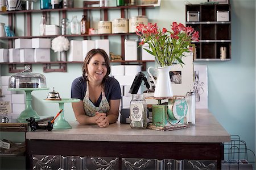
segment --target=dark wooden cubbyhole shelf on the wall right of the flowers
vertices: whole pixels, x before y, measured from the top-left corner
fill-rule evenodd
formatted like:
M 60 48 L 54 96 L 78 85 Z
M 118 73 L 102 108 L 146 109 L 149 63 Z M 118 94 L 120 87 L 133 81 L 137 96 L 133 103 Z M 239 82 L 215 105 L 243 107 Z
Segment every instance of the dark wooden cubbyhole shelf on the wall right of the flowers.
M 195 61 L 231 60 L 231 7 L 220 5 L 186 5 L 186 26 L 199 31 L 199 42 L 195 42 Z M 188 11 L 199 12 L 199 21 L 189 22 Z M 229 11 L 229 21 L 217 21 L 217 11 Z M 225 59 L 221 58 L 221 47 L 226 48 Z

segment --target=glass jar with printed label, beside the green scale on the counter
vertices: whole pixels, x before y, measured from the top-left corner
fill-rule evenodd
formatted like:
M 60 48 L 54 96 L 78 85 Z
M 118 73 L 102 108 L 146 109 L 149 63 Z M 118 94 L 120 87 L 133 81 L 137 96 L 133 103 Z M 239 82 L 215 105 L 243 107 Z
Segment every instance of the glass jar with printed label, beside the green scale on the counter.
M 147 103 L 144 94 L 133 94 L 130 102 L 130 126 L 131 128 L 147 127 Z

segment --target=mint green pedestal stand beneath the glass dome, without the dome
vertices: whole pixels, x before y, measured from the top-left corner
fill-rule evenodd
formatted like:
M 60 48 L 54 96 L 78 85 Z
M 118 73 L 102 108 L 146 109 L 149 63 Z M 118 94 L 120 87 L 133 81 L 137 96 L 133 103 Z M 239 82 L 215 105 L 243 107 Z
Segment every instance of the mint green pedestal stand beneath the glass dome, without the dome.
M 32 96 L 31 93 L 34 90 L 49 90 L 49 88 L 9 88 L 9 91 L 25 91 L 26 92 L 26 109 L 23 110 L 19 117 L 19 122 L 27 122 L 26 119 L 33 117 L 38 120 L 40 117 L 35 110 L 32 109 Z

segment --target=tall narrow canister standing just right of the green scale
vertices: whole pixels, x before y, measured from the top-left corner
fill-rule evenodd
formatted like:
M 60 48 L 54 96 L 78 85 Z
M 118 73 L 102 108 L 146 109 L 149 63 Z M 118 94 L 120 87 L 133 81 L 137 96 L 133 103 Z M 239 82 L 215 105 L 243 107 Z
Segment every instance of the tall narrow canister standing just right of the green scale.
M 188 103 L 188 112 L 186 115 L 186 123 L 195 125 L 196 123 L 196 95 L 195 92 L 187 92 L 186 101 Z

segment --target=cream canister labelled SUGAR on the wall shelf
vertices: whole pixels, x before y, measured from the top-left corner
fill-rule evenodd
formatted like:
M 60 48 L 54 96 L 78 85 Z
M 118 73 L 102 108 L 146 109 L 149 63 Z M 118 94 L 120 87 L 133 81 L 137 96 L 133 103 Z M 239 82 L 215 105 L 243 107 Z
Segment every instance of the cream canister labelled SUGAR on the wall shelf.
M 112 34 L 128 33 L 128 19 L 118 18 L 112 20 Z

